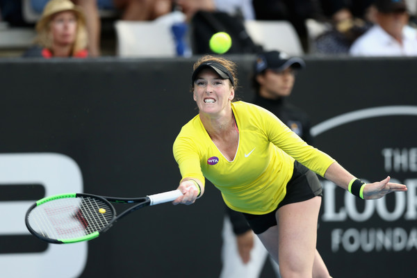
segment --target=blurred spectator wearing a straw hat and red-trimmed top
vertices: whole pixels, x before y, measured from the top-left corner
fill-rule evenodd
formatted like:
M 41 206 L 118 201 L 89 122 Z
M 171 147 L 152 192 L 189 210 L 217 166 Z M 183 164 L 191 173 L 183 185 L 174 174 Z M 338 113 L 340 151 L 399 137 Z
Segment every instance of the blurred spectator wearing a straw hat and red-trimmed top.
M 36 24 L 36 45 L 24 57 L 88 56 L 83 10 L 70 0 L 51 0 Z

